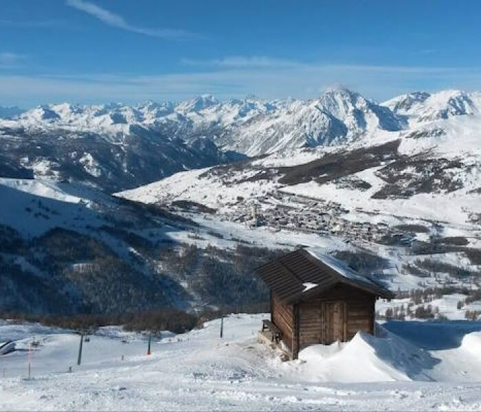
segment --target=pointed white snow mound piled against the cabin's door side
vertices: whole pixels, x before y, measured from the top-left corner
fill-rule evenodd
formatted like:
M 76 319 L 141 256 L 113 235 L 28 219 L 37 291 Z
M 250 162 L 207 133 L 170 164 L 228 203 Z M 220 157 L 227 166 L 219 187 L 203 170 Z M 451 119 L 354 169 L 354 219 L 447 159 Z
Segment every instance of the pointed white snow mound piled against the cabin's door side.
M 394 334 L 358 332 L 348 343 L 313 345 L 299 354 L 298 373 L 311 382 L 428 380 L 423 369 L 436 361 Z

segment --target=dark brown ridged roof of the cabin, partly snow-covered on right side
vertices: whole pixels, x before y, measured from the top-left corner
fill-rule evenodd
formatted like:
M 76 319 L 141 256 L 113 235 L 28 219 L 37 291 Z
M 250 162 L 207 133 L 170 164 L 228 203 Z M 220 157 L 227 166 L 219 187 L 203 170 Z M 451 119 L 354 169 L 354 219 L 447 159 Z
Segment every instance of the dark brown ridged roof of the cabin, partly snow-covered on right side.
M 394 297 L 390 290 L 316 248 L 282 255 L 257 268 L 256 273 L 288 303 L 309 299 L 339 283 L 386 299 Z

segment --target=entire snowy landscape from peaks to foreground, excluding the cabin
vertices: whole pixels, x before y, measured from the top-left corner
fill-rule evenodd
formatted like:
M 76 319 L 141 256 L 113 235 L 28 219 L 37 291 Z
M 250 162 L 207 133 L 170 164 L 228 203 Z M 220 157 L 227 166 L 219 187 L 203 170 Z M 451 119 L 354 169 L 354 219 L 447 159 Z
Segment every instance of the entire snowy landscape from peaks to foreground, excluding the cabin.
M 481 93 L 0 115 L 0 409 L 481 408 Z M 283 362 L 254 270 L 304 247 L 396 297 Z M 79 328 L 12 320 L 166 310 L 192 324 L 150 356 L 97 325 L 80 366 Z

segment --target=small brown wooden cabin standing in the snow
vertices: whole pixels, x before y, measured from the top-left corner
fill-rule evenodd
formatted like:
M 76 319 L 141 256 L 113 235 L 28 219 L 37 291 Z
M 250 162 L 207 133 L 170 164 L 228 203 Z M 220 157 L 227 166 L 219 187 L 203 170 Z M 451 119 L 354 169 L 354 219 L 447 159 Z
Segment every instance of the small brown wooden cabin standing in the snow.
M 330 255 L 300 249 L 256 270 L 270 288 L 271 330 L 293 359 L 304 347 L 374 333 L 374 302 L 394 294 Z

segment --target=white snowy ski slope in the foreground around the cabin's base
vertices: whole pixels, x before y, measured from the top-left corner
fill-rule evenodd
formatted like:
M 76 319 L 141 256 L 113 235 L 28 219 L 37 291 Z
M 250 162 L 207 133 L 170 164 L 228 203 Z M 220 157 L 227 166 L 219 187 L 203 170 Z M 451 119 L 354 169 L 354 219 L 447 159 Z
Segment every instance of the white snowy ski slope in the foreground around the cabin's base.
M 282 362 L 258 342 L 265 317 L 225 317 L 222 339 L 220 319 L 164 332 L 150 356 L 146 334 L 100 328 L 80 366 L 78 334 L 0 321 L 16 348 L 0 356 L 0 410 L 481 409 L 481 322 L 391 321 Z

